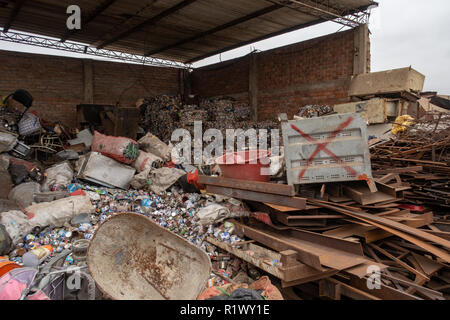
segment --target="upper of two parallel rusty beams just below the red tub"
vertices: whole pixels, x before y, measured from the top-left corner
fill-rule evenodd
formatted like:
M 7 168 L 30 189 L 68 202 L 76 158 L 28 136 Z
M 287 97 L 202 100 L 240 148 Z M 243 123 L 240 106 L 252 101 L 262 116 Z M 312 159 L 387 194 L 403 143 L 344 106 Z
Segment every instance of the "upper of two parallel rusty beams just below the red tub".
M 281 196 L 294 196 L 294 186 L 279 183 L 259 182 L 223 177 L 199 175 L 198 182 L 203 185 L 212 185 L 225 188 L 242 189 L 262 193 L 277 194 Z

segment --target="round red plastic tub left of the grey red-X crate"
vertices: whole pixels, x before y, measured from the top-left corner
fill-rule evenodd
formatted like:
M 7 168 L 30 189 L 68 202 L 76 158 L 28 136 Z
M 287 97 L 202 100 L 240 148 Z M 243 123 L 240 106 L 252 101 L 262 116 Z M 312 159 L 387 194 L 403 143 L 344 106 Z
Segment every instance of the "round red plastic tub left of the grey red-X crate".
M 238 151 L 220 156 L 216 159 L 216 164 L 219 165 L 225 178 L 267 182 L 270 175 L 262 175 L 261 169 L 270 166 L 267 159 L 269 157 L 268 150 Z M 266 159 L 264 163 L 267 164 L 261 163 L 263 159 Z

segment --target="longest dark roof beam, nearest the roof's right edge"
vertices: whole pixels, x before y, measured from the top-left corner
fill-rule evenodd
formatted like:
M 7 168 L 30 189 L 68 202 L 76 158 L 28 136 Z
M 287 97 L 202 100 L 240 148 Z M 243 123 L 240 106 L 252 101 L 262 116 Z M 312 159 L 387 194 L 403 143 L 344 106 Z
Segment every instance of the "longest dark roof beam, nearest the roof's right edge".
M 218 26 L 218 27 L 215 27 L 215 28 L 213 28 L 213 29 L 210 29 L 210 30 L 207 30 L 207 31 L 198 33 L 198 34 L 196 34 L 196 35 L 193 35 L 192 37 L 189 37 L 189 38 L 180 40 L 180 41 L 178 41 L 178 42 L 176 42 L 176 43 L 169 44 L 169 45 L 167 45 L 167 46 L 165 46 L 165 47 L 161 47 L 161 48 L 158 48 L 158 49 L 150 50 L 149 52 L 147 52 L 147 53 L 145 54 L 145 56 L 146 56 L 146 57 L 147 57 L 147 56 L 151 56 L 151 55 L 154 55 L 154 54 L 157 54 L 157 53 L 160 53 L 160 52 L 163 52 L 163 51 L 167 51 L 167 50 L 172 49 L 172 48 L 175 48 L 175 47 L 179 47 L 179 46 L 181 46 L 181 45 L 183 45 L 183 44 L 186 44 L 186 43 L 189 43 L 189 42 L 198 40 L 198 39 L 203 38 L 203 37 L 206 37 L 206 36 L 208 36 L 208 35 L 211 35 L 211 34 L 214 34 L 214 33 L 219 32 L 219 31 L 225 30 L 225 29 L 227 29 L 227 28 L 234 27 L 234 26 L 236 26 L 236 25 L 238 25 L 238 24 L 241 24 L 241 23 L 243 23 L 243 22 L 246 22 L 246 21 L 248 21 L 248 20 L 251 20 L 251 19 L 260 17 L 260 16 L 262 16 L 262 15 L 268 14 L 268 13 L 273 12 L 273 11 L 275 11 L 275 10 L 278 10 L 278 9 L 280 9 L 280 8 L 282 8 L 282 7 L 283 7 L 283 6 L 280 5 L 280 4 L 274 4 L 274 5 L 270 6 L 270 7 L 266 7 L 266 8 L 264 8 L 264 9 L 261 9 L 261 10 L 255 11 L 255 12 L 252 12 L 252 13 L 250 13 L 250 14 L 244 16 L 244 17 L 241 17 L 241 18 L 232 20 L 232 21 L 230 21 L 230 22 L 228 22 L 228 23 L 225 23 L 225 24 L 220 25 L 220 26 Z

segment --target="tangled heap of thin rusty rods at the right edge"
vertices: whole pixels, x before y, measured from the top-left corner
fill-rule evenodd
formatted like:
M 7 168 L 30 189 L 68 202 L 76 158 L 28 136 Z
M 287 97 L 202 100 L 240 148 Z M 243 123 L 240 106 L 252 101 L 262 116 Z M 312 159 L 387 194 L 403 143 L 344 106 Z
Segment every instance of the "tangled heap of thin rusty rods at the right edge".
M 371 148 L 374 175 L 399 174 L 408 203 L 446 215 L 450 207 L 450 115 L 429 114 L 405 134 Z M 445 218 L 445 217 L 444 217 Z

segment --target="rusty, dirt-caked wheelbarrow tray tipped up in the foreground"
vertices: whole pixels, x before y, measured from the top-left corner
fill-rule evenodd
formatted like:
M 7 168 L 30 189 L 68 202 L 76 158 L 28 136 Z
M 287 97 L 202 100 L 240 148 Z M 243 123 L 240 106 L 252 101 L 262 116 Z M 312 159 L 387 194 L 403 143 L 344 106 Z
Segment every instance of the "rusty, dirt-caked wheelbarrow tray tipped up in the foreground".
M 204 251 L 135 213 L 97 229 L 87 264 L 98 289 L 114 300 L 193 300 L 211 274 Z

